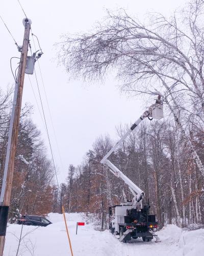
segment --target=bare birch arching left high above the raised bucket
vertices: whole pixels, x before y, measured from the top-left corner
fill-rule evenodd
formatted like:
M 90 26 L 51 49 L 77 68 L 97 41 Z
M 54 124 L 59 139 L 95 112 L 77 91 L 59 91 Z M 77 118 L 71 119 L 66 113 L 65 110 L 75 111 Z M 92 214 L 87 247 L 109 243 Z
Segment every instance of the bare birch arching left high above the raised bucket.
M 170 19 L 151 14 L 146 25 L 124 10 L 108 12 L 92 33 L 65 35 L 59 60 L 75 76 L 102 78 L 114 68 L 125 91 L 161 94 L 204 177 L 180 118 L 182 110 L 203 122 L 203 7 L 202 0 L 193 0 Z

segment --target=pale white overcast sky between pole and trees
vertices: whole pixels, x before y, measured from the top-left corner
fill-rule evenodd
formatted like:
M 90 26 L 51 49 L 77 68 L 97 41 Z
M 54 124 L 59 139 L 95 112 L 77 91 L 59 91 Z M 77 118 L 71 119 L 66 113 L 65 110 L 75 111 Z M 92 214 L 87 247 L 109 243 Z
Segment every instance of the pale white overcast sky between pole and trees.
M 184 6 L 186 2 L 186 0 L 20 0 L 25 13 L 32 19 L 33 33 L 38 36 L 44 53 L 39 62 L 62 161 L 59 157 L 50 122 L 38 65 L 36 65 L 36 71 L 60 182 L 65 181 L 68 165 L 80 164 L 85 153 L 99 135 L 110 134 L 112 138 L 116 138 L 115 126 L 119 123 L 135 121 L 140 116 L 141 111 L 144 110 L 145 105 L 140 99 L 127 98 L 122 95 L 117 88 L 117 81 L 112 77 L 103 84 L 69 81 L 69 74 L 65 72 L 64 67 L 57 66 L 55 59 L 57 54 L 53 46 L 55 42 L 60 41 L 60 35 L 63 33 L 90 30 L 96 21 L 101 20 L 106 15 L 106 9 L 115 10 L 122 7 L 130 14 L 143 18 L 147 11 L 170 15 L 176 8 Z M 22 45 L 24 14 L 18 1 L 1 0 L 0 15 L 5 20 L 15 40 L 19 45 Z M 10 58 L 12 56 L 19 57 L 19 53 L 1 20 L 0 31 L 0 88 L 6 90 L 8 84 L 13 83 Z M 33 44 L 32 47 L 34 51 Z M 45 129 L 28 75 L 25 76 L 22 104 L 30 102 L 34 105 L 32 118 L 41 130 L 42 138 L 48 148 Z M 34 75 L 31 79 L 40 105 Z M 50 154 L 49 148 L 47 151 Z

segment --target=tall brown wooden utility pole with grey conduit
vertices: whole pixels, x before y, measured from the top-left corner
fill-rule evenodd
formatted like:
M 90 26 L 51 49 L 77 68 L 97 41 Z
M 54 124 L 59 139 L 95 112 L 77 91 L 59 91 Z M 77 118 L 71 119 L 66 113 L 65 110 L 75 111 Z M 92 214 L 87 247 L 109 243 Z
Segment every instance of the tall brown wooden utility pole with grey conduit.
M 22 91 L 23 91 L 23 83 L 24 83 L 24 75 L 25 75 L 25 67 L 27 63 L 27 55 L 28 55 L 28 47 L 29 47 L 29 36 L 30 36 L 30 29 L 31 29 L 31 21 L 28 18 L 23 20 L 24 29 L 24 37 L 23 37 L 23 45 L 22 51 L 20 56 L 20 64 L 19 64 L 19 72 L 17 77 L 16 83 L 16 90 L 17 95 L 14 95 L 14 102 L 13 102 L 13 118 L 11 117 L 10 125 L 11 127 L 8 139 L 8 147 L 7 147 L 7 155 L 6 155 L 6 162 L 5 162 L 5 170 L 4 170 L 4 178 L 3 178 L 3 185 L 2 185 L 2 194 L 1 198 L 3 200 L 1 203 L 1 211 L 0 211 L 0 223 L 1 218 L 5 218 L 6 216 L 6 223 L 8 221 L 8 207 L 10 205 L 11 199 L 11 189 L 13 183 L 13 172 L 14 172 L 14 160 L 16 155 L 16 146 L 17 146 L 17 139 L 18 139 L 18 127 L 19 127 L 19 120 L 20 120 L 20 110 L 21 110 L 21 102 L 22 102 Z M 16 101 L 15 101 L 16 97 Z M 13 120 L 12 120 L 13 119 Z M 7 210 L 5 210 L 7 209 Z M 5 244 L 5 236 L 0 236 L 0 256 L 3 256 L 4 251 L 4 244 Z

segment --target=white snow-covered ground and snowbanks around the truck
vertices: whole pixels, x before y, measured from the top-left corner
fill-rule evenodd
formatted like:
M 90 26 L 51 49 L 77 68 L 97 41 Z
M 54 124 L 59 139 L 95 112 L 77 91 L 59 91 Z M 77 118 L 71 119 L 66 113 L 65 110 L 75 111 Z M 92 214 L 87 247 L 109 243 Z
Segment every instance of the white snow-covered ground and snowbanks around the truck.
M 120 243 L 108 230 L 96 231 L 93 224 L 78 227 L 76 223 L 86 221 L 84 214 L 66 214 L 74 256 L 197 256 L 204 253 L 204 229 L 182 231 L 175 225 L 167 225 L 158 232 L 161 243 Z M 18 255 L 66 256 L 71 255 L 65 223 L 60 214 L 49 214 L 53 224 L 47 227 L 23 226 L 22 241 Z M 34 230 L 35 229 L 35 230 Z M 21 225 L 10 224 L 7 228 L 5 256 L 16 255 Z M 28 232 L 30 232 L 28 234 Z

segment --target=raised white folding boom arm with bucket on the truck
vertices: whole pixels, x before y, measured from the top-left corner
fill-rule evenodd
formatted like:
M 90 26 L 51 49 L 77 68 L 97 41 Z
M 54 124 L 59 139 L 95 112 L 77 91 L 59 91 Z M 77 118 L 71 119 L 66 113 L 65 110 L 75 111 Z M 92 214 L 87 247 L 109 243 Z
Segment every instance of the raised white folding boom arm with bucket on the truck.
M 160 96 L 158 96 L 158 99 L 156 100 L 156 103 L 151 105 L 148 110 L 146 110 L 139 119 L 131 126 L 130 130 L 127 131 L 122 138 L 111 148 L 111 150 L 106 154 L 106 156 L 100 161 L 100 163 L 103 163 L 108 166 L 110 171 L 118 178 L 121 178 L 131 190 L 134 198 L 132 200 L 133 205 L 137 206 L 141 203 L 144 192 L 135 184 L 133 183 L 129 178 L 127 178 L 110 160 L 108 160 L 108 157 L 116 150 L 116 148 L 122 143 L 122 141 L 125 140 L 127 136 L 129 136 L 133 130 L 138 126 L 140 122 L 142 122 L 146 117 L 154 118 L 154 119 L 161 119 L 164 117 L 163 115 L 163 101 Z M 150 119 L 151 120 L 151 119 Z

